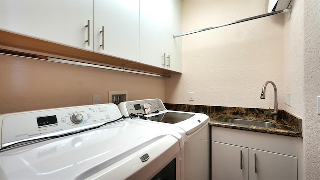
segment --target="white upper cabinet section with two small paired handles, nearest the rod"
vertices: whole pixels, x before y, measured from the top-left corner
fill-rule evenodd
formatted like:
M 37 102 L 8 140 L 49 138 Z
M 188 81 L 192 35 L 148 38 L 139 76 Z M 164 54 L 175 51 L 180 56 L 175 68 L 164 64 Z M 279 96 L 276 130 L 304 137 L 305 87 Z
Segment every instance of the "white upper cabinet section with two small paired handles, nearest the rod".
M 141 63 L 182 72 L 181 0 L 140 0 Z

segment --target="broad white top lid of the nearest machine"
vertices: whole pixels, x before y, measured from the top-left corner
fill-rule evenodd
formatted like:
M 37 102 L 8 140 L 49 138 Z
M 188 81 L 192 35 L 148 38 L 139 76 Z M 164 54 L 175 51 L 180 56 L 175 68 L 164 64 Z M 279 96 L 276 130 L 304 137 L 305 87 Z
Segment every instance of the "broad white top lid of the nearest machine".
M 155 128 L 121 121 L 7 149 L 0 152 L 0 179 L 75 179 L 84 172 L 92 175 L 165 135 Z

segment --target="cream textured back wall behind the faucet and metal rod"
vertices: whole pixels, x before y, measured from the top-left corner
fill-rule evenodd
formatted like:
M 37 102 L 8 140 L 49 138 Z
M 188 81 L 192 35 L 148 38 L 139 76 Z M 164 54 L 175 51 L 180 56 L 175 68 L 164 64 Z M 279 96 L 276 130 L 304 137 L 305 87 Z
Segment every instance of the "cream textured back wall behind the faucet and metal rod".
M 183 0 L 182 31 L 264 14 L 265 0 Z M 166 80 L 167 103 L 273 108 L 271 80 L 284 108 L 284 15 L 274 15 L 182 38 L 182 75 Z M 189 92 L 195 101 L 189 101 Z

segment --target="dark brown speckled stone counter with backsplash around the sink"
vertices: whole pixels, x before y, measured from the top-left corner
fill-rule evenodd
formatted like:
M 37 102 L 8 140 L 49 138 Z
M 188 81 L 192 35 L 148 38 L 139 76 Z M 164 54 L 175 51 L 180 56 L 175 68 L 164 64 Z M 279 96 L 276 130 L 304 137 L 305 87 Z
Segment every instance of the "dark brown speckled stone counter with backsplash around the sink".
M 302 137 L 302 119 L 284 110 L 278 111 L 278 120 L 273 120 L 269 109 L 220 107 L 205 105 L 164 104 L 168 110 L 205 113 L 210 117 L 209 125 L 255 132 Z M 278 125 L 278 128 L 258 127 L 225 122 L 236 118 L 255 121 L 266 121 Z

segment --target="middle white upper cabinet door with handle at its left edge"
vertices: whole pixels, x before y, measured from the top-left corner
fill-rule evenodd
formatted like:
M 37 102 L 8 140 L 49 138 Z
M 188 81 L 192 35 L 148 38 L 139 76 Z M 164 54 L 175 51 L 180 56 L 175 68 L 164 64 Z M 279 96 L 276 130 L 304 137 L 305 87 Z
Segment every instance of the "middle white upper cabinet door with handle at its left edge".
M 94 51 L 139 62 L 139 9 L 139 0 L 94 0 Z

